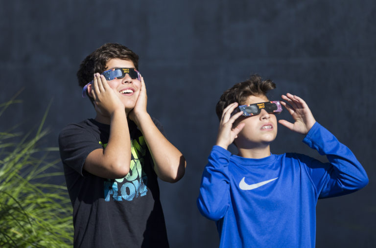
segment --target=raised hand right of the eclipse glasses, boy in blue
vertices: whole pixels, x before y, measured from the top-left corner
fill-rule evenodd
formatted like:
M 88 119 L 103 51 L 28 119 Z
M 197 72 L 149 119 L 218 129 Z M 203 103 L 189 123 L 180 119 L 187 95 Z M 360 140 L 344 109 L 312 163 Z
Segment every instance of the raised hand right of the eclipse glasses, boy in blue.
M 281 101 L 281 105 L 291 114 L 295 122 L 291 123 L 286 120 L 279 120 L 278 122 L 292 131 L 306 135 L 316 122 L 308 105 L 302 98 L 290 93 L 282 95 L 282 99 L 287 103 Z

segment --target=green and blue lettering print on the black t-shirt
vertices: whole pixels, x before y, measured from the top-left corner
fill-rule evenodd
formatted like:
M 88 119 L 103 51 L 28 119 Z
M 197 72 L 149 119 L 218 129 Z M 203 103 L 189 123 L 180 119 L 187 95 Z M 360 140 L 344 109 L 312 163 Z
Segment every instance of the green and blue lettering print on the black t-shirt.
M 103 148 L 107 145 L 99 143 Z M 142 171 L 141 166 L 144 162 L 146 149 L 147 146 L 143 136 L 131 141 L 132 160 L 129 173 L 121 179 L 104 181 L 104 198 L 106 202 L 111 200 L 111 196 L 114 201 L 132 201 L 135 198 L 146 195 L 147 176 Z

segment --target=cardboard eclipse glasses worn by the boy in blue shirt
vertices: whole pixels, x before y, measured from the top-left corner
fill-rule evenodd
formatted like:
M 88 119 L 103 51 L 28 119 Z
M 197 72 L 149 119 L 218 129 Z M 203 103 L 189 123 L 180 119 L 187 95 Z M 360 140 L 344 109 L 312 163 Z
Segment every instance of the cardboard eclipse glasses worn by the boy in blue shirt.
M 240 105 L 234 110 L 233 114 L 241 111 L 243 116 L 252 116 L 261 113 L 261 110 L 265 110 L 267 113 L 280 113 L 282 112 L 282 105 L 280 101 Z

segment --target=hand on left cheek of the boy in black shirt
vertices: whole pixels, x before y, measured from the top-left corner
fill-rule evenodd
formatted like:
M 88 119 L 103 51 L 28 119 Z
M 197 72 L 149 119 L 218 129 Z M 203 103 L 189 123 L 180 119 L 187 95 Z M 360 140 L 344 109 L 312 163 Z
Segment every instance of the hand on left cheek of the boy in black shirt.
M 110 116 L 116 110 L 125 111 L 125 106 L 117 95 L 117 91 L 112 89 L 103 75 L 94 74 L 94 80 L 88 86 L 88 91 L 94 99 L 95 110 L 104 115 Z

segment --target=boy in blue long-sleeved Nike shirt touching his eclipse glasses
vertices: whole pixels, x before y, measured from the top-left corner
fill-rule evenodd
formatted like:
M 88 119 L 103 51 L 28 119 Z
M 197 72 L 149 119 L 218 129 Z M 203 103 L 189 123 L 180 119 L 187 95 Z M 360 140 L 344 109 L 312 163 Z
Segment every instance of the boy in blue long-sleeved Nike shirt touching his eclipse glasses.
M 269 102 L 271 80 L 258 75 L 226 90 L 216 106 L 218 136 L 205 167 L 197 206 L 216 222 L 220 247 L 315 247 L 319 198 L 352 193 L 368 178 L 352 152 L 317 123 L 305 101 L 287 93 Z M 242 106 L 239 106 L 242 105 Z M 302 154 L 271 154 L 282 106 L 305 135 L 303 142 L 326 155 L 322 163 Z M 232 155 L 233 143 L 238 154 Z

